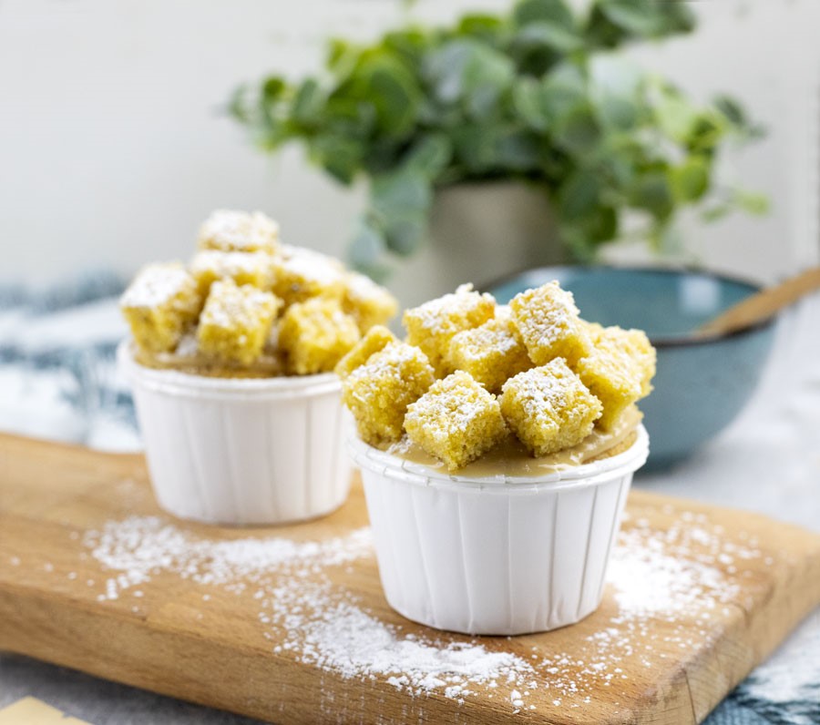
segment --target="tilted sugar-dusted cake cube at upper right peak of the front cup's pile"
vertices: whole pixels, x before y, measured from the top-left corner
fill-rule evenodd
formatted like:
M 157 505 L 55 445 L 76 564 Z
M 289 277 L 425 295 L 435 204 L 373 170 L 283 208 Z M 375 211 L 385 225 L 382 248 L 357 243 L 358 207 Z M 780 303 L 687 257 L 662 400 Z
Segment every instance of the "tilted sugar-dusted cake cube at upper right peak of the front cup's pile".
M 532 362 L 562 357 L 569 364 L 589 354 L 589 328 L 579 318 L 572 292 L 556 281 L 523 291 L 509 303 L 512 319 Z

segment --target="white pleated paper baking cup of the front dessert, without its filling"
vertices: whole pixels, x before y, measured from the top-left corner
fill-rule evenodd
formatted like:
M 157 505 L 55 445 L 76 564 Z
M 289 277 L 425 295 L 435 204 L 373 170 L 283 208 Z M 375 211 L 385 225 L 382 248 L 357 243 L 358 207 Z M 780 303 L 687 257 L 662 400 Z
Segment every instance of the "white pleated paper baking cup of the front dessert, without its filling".
M 600 605 L 632 474 L 629 450 L 542 477 L 468 479 L 349 441 L 361 466 L 384 595 L 399 614 L 466 634 L 564 627 Z

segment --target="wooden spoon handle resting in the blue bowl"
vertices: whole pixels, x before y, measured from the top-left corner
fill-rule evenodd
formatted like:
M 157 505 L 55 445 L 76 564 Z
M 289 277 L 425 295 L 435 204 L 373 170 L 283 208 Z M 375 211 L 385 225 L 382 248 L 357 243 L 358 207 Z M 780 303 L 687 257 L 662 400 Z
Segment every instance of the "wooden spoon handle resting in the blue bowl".
M 767 290 L 759 291 L 722 312 L 697 330 L 699 337 L 736 332 L 764 322 L 801 297 L 820 290 L 820 267 L 812 267 Z

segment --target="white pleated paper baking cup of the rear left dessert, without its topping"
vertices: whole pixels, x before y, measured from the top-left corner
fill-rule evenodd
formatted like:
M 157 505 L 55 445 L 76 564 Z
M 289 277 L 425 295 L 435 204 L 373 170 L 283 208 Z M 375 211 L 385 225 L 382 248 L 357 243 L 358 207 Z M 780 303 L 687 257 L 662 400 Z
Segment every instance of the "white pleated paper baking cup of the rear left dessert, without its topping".
M 212 524 L 282 524 L 323 516 L 350 489 L 341 383 L 332 373 L 209 378 L 153 370 L 129 342 L 131 383 L 159 505 Z

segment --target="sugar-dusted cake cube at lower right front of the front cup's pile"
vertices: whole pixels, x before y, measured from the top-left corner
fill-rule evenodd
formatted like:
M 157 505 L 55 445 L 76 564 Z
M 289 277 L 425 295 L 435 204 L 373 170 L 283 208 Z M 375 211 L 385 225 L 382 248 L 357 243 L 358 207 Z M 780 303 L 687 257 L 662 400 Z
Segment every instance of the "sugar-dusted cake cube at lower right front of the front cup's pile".
M 598 398 L 563 358 L 510 378 L 500 403 L 507 425 L 535 456 L 579 444 L 602 411 Z

